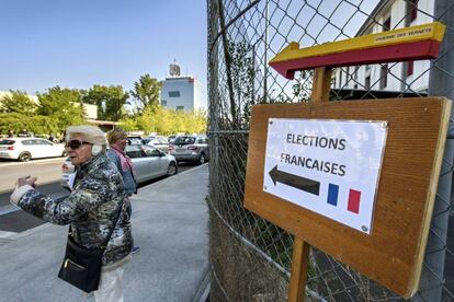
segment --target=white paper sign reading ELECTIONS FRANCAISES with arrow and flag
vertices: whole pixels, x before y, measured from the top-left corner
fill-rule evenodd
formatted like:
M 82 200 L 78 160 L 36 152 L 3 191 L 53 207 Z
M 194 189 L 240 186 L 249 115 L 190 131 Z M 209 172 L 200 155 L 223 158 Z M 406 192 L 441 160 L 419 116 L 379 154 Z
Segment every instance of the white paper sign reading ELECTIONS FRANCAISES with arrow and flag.
M 263 190 L 371 234 L 386 121 L 270 118 Z

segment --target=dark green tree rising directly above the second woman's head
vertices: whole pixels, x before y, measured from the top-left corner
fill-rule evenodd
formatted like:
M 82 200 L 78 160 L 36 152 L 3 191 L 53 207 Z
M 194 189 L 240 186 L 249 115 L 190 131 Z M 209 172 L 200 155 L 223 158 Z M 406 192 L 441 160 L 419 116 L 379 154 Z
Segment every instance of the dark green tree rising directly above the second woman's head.
M 93 85 L 82 101 L 97 105 L 99 119 L 117 121 L 125 116 L 124 105 L 128 97 L 122 85 Z

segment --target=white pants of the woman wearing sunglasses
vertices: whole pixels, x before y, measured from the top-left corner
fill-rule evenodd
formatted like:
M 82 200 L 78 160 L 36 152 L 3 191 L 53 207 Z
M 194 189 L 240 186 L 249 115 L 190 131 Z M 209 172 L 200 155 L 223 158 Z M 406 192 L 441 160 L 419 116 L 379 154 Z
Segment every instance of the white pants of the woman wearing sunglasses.
M 123 302 L 123 267 L 101 272 L 100 286 L 94 291 L 97 302 Z

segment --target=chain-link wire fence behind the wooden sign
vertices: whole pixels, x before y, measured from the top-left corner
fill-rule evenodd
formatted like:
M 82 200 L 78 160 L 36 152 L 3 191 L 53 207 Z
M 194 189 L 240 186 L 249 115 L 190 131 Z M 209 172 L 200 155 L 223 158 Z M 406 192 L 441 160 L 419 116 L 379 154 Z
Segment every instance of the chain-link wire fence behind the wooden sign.
M 293 236 L 242 206 L 249 118 L 254 104 L 310 102 L 313 71 L 286 80 L 268 61 L 290 42 L 308 47 L 441 21 L 447 28 L 436 60 L 338 68 L 331 100 L 409 95 L 454 100 L 454 1 L 208 0 L 207 10 L 211 301 L 285 301 Z M 450 126 L 415 301 L 454 301 L 454 135 Z M 308 274 L 308 299 L 404 300 L 316 248 Z

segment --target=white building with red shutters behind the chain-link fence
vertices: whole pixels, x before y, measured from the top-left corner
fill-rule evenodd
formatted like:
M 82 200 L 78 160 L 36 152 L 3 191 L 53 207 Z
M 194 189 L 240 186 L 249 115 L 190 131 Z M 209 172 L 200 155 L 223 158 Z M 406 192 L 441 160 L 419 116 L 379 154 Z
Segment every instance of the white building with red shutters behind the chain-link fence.
M 433 22 L 434 0 L 381 0 L 356 36 Z M 427 92 L 429 60 L 351 66 L 333 71 L 333 89 Z

